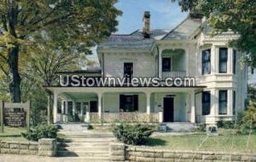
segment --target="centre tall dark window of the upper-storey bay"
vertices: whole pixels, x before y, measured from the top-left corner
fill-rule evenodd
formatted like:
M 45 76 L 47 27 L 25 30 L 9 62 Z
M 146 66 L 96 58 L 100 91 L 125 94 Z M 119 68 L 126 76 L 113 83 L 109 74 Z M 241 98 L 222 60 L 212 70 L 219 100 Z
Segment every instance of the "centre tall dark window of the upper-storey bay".
M 227 61 L 228 61 L 228 49 L 219 48 L 219 51 L 218 51 L 218 72 L 219 73 L 227 72 Z

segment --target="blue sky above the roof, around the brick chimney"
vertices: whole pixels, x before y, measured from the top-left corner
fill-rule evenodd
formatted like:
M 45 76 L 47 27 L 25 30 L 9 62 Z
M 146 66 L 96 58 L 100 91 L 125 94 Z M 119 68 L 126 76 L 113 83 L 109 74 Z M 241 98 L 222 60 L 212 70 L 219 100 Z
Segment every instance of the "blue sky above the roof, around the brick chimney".
M 151 29 L 172 29 L 188 14 L 181 12 L 177 3 L 171 3 L 171 0 L 119 0 L 115 7 L 123 11 L 118 18 L 118 34 L 142 29 L 144 11 L 150 11 Z

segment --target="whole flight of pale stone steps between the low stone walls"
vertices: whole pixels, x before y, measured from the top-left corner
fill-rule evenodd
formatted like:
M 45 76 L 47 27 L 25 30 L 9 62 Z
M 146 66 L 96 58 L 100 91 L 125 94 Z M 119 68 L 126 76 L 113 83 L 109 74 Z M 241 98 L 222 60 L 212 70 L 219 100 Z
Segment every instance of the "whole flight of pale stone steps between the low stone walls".
M 63 127 L 62 127 L 63 128 Z M 94 133 L 90 130 L 61 130 L 65 140 L 58 149 L 59 157 L 84 162 L 107 162 L 109 160 L 109 143 L 115 138 L 110 133 Z

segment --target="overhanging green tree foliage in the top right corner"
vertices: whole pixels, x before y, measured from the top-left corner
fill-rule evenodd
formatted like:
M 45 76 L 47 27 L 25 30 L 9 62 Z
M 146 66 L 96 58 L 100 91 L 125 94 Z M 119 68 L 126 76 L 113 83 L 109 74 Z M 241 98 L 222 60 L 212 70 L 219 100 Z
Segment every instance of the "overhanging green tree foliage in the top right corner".
M 246 52 L 244 61 L 256 67 L 256 1 L 252 0 L 171 0 L 178 2 L 183 11 L 206 16 L 213 34 L 231 30 L 240 38 L 230 42 L 231 46 Z

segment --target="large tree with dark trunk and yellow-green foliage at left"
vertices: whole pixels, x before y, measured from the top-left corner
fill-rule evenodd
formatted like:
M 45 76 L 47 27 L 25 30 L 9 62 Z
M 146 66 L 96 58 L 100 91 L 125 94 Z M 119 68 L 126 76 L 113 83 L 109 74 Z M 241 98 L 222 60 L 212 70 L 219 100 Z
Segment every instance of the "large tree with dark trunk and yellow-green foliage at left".
M 114 3 L 117 0 L 1 0 L 0 68 L 9 78 L 11 101 L 21 101 L 20 51 L 45 38 L 55 47 L 88 50 L 117 30 L 115 19 L 121 12 Z

